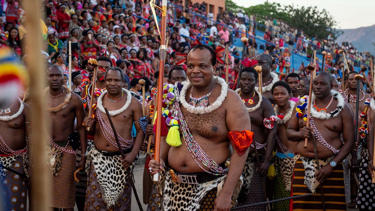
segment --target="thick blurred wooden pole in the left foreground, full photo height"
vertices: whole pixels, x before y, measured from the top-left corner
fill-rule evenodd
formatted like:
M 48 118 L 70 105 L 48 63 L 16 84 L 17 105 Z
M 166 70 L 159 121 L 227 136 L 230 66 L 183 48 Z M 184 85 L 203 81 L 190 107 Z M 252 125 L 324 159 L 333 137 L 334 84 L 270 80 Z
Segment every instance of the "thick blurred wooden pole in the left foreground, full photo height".
M 51 197 L 51 171 L 47 167 L 46 158 L 46 143 L 45 140 L 45 125 L 48 122 L 48 116 L 45 114 L 45 103 L 43 102 L 45 89 L 45 66 L 43 66 L 42 58 L 40 57 L 40 49 L 42 49 L 42 34 L 40 29 L 40 21 L 42 14 L 41 1 L 23 1 L 23 8 L 25 9 L 26 22 L 25 26 L 28 30 L 26 36 L 26 53 L 28 59 L 28 71 L 30 72 L 30 89 L 32 101 L 32 120 L 33 120 L 33 152 L 30 154 L 31 167 L 31 203 L 30 209 L 37 211 L 50 211 L 51 208 L 49 199 Z M 47 128 L 48 130 L 48 128 Z M 30 150 L 30 148 L 29 148 Z M 29 190 L 30 191 L 30 190 Z

